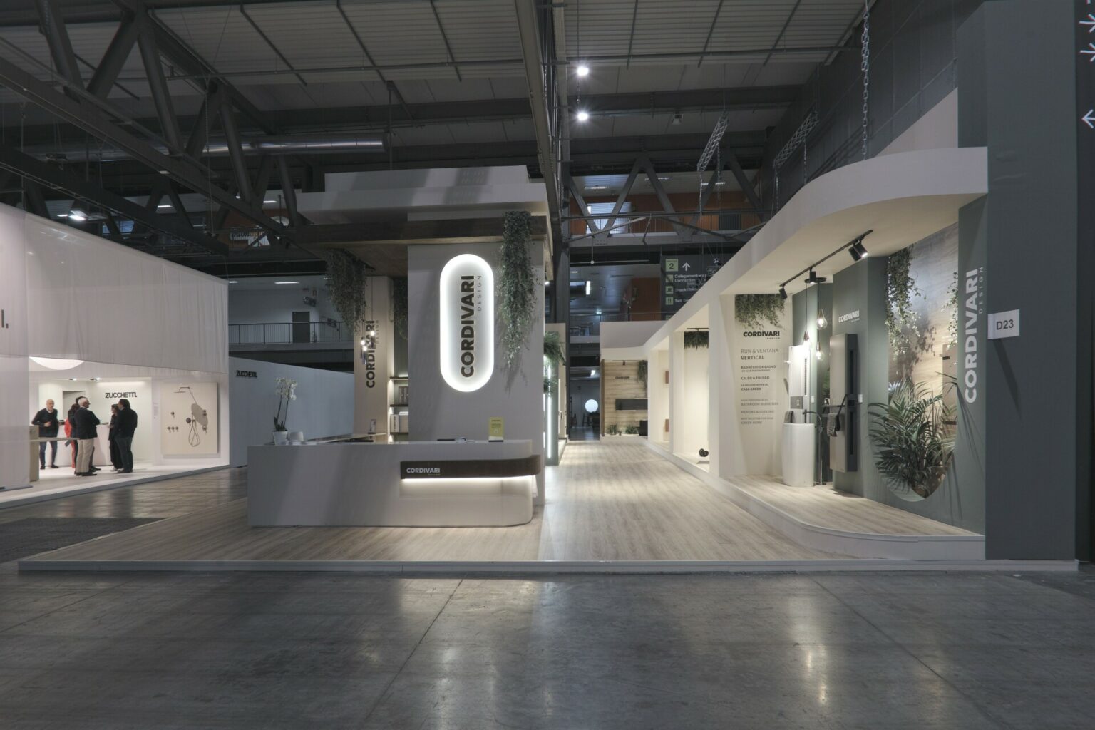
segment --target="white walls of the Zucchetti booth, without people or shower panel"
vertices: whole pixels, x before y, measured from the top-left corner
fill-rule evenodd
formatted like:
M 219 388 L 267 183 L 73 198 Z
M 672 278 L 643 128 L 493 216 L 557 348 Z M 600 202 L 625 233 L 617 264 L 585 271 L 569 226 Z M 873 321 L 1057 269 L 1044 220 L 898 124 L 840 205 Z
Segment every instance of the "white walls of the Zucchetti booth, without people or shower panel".
M 107 421 L 108 403 L 117 401 L 107 393 L 134 392 L 107 390 L 118 383 L 148 383 L 151 391 L 146 401 L 132 386 L 137 459 L 174 459 L 192 467 L 227 463 L 228 432 L 219 427 L 198 461 L 162 454 L 157 408 L 165 379 L 227 392 L 226 282 L 8 206 L 0 206 L 0 486 L 30 479 L 30 422 L 46 393 L 66 413 L 57 391 L 88 390 Z M 28 356 L 73 367 L 50 370 Z M 228 418 L 223 397 L 218 410 L 219 424 Z

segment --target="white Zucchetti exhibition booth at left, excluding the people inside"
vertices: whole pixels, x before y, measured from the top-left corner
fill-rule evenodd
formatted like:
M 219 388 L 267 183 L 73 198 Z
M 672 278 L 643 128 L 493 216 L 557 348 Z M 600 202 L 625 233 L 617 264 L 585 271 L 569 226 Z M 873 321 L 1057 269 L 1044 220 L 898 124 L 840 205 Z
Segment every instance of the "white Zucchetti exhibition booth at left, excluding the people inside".
M 226 283 L 117 243 L 0 207 L 4 294 L 0 503 L 218 468 L 228 463 Z M 77 397 L 99 417 L 94 464 L 110 465 L 111 404 L 138 416 L 134 472 L 73 476 L 64 427 L 57 470 L 38 470 L 34 414 Z

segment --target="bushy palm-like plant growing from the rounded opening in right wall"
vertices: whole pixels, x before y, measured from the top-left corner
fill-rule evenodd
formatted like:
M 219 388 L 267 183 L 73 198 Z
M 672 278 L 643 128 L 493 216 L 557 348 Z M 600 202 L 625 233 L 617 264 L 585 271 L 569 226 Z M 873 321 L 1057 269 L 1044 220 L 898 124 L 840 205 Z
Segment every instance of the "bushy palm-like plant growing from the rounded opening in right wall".
M 953 383 L 953 381 L 952 381 Z M 886 403 L 872 403 L 871 443 L 875 465 L 902 499 L 926 499 L 943 484 L 954 457 L 953 408 L 943 394 L 903 380 L 889 386 Z

